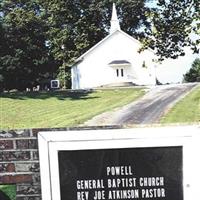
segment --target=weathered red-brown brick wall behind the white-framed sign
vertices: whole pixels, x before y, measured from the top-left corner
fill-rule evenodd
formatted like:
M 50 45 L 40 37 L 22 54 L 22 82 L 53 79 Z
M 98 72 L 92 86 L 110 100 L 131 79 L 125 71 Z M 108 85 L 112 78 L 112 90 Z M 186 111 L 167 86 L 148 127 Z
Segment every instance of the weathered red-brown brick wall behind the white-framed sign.
M 121 126 L 0 131 L 0 184 L 16 185 L 16 200 L 41 200 L 37 134 L 40 131 L 117 129 Z

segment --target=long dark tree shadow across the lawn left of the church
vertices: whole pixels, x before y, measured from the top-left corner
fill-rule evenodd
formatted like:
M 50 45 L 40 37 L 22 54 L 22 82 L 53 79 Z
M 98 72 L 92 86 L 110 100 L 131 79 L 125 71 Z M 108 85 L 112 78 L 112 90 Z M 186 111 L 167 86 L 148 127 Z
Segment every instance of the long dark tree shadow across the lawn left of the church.
M 18 100 L 27 99 L 49 99 L 57 98 L 59 100 L 87 100 L 98 97 L 90 97 L 93 90 L 59 90 L 59 91 L 39 91 L 39 92 L 11 92 L 1 94 L 1 98 L 10 98 Z

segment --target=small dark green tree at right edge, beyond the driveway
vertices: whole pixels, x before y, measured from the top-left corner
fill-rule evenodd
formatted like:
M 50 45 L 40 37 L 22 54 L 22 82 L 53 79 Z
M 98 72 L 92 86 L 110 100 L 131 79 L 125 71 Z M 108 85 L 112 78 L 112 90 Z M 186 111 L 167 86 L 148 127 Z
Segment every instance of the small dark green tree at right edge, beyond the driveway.
M 187 82 L 200 81 L 200 59 L 196 58 L 192 63 L 190 70 L 184 75 L 184 80 Z

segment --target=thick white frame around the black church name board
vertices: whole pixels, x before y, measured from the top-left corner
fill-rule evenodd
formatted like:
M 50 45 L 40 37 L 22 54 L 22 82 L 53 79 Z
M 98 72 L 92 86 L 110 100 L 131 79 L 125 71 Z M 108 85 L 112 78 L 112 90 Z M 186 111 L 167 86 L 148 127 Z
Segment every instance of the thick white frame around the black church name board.
M 200 186 L 198 126 L 51 131 L 38 134 L 43 200 L 61 200 L 58 151 L 145 147 L 183 148 L 183 197 L 198 199 Z

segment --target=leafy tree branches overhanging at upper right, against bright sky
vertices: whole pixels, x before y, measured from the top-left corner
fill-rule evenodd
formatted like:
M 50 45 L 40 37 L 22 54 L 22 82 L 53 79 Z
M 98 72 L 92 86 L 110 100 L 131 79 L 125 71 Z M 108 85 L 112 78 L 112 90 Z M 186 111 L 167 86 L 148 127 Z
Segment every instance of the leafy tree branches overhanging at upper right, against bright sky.
M 199 52 L 199 0 L 157 0 L 156 7 L 149 12 L 149 20 L 151 28 L 145 28 L 144 48 L 155 49 L 159 60 L 185 55 L 185 46 Z M 192 39 L 192 33 L 196 39 Z

